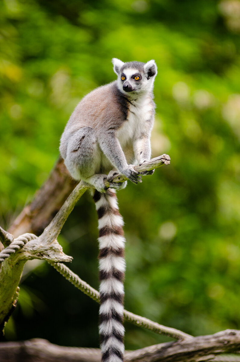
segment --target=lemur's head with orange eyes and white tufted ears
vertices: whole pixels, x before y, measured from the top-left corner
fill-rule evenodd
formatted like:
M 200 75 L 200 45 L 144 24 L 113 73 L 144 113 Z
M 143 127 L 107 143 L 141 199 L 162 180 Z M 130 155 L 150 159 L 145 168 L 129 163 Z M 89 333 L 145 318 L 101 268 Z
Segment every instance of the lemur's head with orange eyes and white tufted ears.
M 121 60 L 113 58 L 112 62 L 113 70 L 118 76 L 118 89 L 122 93 L 128 93 L 131 96 L 131 94 L 151 92 L 157 75 L 157 66 L 154 60 L 149 60 L 147 63 L 123 63 Z

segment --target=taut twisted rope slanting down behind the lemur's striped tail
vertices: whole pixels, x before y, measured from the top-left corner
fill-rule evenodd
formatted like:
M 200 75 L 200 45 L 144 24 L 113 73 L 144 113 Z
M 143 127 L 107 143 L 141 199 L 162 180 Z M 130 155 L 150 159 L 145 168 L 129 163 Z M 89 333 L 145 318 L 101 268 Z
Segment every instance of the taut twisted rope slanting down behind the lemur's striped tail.
M 91 287 L 89 284 L 84 282 L 79 276 L 72 272 L 66 265 L 62 263 L 49 262 L 60 274 L 64 276 L 70 283 L 72 283 L 77 289 L 84 292 L 84 294 L 90 296 L 90 298 L 96 300 L 96 302 L 100 303 L 99 292 Z M 179 331 L 175 328 L 165 327 L 164 325 L 158 324 L 156 322 L 151 321 L 150 319 L 138 316 L 134 313 L 124 310 L 124 317 L 126 320 L 131 323 L 143 327 L 146 329 L 150 329 L 151 331 L 163 334 L 164 336 L 168 336 L 174 339 L 186 339 L 193 338 L 190 334 Z

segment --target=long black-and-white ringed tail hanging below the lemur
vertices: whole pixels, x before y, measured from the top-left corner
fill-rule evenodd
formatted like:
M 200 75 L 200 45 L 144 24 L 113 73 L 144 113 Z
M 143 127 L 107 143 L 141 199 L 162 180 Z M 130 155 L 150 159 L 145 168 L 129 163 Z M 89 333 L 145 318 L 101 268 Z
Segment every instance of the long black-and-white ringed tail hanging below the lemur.
M 123 219 L 113 189 L 94 192 L 99 230 L 100 325 L 102 362 L 122 362 L 124 354 L 123 279 L 125 238 Z

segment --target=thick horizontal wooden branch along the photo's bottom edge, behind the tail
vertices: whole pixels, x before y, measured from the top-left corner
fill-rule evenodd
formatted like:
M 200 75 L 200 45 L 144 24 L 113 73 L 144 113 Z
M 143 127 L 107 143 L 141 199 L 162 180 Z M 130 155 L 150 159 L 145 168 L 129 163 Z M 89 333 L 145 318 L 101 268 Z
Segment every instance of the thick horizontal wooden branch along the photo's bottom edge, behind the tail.
M 200 362 L 221 361 L 220 353 L 235 353 L 240 349 L 240 331 L 227 329 L 191 340 L 161 343 L 136 351 L 125 352 L 125 362 Z M 228 357 L 235 362 L 239 356 Z M 225 358 L 225 359 L 224 359 Z M 223 361 L 226 361 L 224 356 Z M 0 360 L 15 362 L 100 362 L 101 353 L 95 348 L 63 347 L 42 339 L 0 343 Z

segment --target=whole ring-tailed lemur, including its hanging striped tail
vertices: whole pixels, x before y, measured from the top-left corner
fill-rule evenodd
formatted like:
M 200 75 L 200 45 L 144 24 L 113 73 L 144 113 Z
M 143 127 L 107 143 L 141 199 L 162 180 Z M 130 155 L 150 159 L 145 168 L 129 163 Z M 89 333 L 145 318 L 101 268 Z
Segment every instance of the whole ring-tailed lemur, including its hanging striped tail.
M 115 190 L 126 182 L 113 182 L 118 172 L 141 182 L 133 165 L 150 160 L 150 134 L 155 103 L 154 60 L 147 63 L 113 58 L 117 80 L 87 94 L 73 111 L 60 140 L 60 153 L 75 180 L 93 187 L 98 214 L 100 275 L 100 339 L 102 362 L 123 361 L 123 279 L 125 238 Z M 110 184 L 104 185 L 104 180 Z

